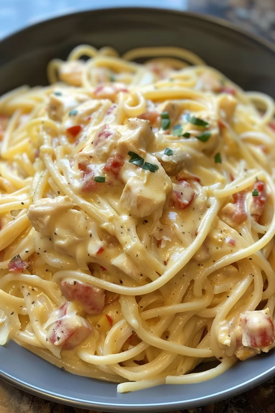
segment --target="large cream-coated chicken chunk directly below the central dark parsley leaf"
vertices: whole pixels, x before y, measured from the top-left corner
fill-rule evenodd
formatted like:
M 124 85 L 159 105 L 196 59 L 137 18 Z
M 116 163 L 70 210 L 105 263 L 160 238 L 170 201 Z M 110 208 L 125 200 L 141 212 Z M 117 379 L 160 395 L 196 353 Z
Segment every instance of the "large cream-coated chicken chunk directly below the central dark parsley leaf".
M 126 185 L 120 197 L 120 206 L 139 218 L 157 209 L 162 211 L 166 196 L 172 190 L 171 180 L 157 159 L 147 154 L 145 161 L 159 169 L 150 172 L 128 163 L 122 173 Z

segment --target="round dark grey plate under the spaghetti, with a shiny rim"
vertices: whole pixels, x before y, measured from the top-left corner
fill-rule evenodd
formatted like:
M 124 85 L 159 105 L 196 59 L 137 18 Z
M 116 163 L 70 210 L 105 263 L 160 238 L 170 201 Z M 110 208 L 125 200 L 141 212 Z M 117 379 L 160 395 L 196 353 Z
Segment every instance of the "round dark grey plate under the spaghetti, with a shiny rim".
M 0 42 L 0 93 L 22 84 L 46 85 L 47 62 L 88 43 L 120 53 L 140 46 L 192 50 L 245 90 L 275 97 L 275 48 L 226 21 L 157 9 L 105 9 L 42 22 Z M 0 376 L 28 392 L 105 411 L 178 410 L 233 396 L 275 374 L 275 352 L 239 363 L 194 385 L 160 386 L 118 394 L 116 385 L 64 372 L 9 342 L 0 347 Z

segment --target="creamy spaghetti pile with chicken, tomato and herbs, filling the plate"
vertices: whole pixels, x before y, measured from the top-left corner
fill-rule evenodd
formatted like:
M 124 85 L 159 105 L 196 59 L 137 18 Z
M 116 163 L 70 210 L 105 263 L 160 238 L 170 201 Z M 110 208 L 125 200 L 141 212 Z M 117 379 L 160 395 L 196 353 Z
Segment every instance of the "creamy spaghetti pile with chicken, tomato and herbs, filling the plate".
M 174 47 L 48 76 L 0 99 L 0 344 L 119 392 L 274 347 L 273 100 Z

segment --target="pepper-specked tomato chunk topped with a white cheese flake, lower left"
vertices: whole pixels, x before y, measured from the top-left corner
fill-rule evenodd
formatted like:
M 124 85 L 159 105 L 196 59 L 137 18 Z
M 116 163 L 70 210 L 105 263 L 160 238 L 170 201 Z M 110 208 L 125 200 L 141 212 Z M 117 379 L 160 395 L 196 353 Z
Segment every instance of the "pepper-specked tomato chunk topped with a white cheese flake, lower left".
M 58 320 L 51 325 L 48 331 L 49 341 L 55 346 L 61 346 L 64 350 L 77 347 L 93 330 L 85 318 L 70 311 L 71 305 L 72 303 L 67 301 L 52 312 L 51 316 L 54 314 Z

